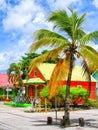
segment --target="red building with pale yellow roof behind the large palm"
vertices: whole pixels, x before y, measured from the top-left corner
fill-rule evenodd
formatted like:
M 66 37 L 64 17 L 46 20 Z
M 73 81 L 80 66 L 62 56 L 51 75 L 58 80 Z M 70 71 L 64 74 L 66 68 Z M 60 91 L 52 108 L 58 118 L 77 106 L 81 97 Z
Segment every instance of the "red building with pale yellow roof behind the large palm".
M 42 63 L 32 69 L 29 79 L 24 80 L 26 86 L 26 94 L 28 97 L 39 97 L 42 88 L 49 82 L 55 64 Z M 62 81 L 66 84 L 66 80 Z M 83 75 L 82 67 L 75 66 L 72 72 L 71 87 L 81 86 L 88 90 L 88 81 Z M 96 100 L 96 80 L 91 76 L 91 92 L 90 98 Z

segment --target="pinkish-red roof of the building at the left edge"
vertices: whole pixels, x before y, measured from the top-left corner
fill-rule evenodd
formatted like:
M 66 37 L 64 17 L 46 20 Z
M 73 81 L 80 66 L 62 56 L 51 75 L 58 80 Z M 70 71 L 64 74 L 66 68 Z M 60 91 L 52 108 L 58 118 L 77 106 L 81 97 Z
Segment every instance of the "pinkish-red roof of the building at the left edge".
M 12 83 L 8 82 L 8 75 L 7 74 L 0 74 L 0 88 L 4 87 L 12 87 Z

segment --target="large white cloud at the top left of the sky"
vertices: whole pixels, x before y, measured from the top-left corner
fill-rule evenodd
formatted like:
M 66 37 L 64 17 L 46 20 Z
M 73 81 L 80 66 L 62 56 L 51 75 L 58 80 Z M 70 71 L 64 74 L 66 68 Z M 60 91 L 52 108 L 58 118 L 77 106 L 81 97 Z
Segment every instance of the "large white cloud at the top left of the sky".
M 41 10 L 33 0 L 21 0 L 19 5 L 9 6 L 7 17 L 3 20 L 5 30 L 19 29 L 32 21 L 37 12 Z

